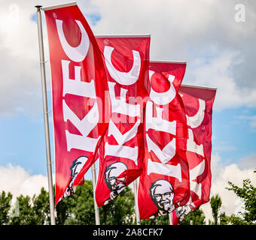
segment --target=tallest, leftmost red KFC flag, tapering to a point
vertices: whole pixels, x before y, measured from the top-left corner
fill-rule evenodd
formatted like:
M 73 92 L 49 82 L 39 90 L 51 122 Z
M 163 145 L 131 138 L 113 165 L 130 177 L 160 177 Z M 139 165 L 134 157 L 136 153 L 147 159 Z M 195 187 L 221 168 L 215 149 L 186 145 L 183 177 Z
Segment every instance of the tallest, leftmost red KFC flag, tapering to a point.
M 65 5 L 66 6 L 66 5 Z M 44 8 L 50 47 L 56 199 L 74 193 L 108 127 L 101 52 L 75 4 Z

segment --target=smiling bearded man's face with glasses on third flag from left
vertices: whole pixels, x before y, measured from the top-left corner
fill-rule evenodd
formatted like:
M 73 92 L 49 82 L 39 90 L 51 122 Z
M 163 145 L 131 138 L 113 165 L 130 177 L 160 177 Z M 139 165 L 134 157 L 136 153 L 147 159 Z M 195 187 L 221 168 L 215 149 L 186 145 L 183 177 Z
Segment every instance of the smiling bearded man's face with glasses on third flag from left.
M 173 187 L 169 181 L 166 180 L 157 180 L 151 184 L 150 187 L 151 199 L 154 204 L 157 206 L 157 213 L 155 216 L 168 214 L 174 209 L 173 205 Z

